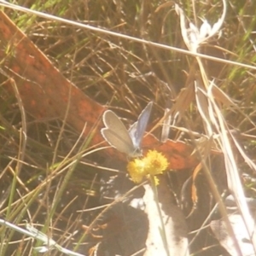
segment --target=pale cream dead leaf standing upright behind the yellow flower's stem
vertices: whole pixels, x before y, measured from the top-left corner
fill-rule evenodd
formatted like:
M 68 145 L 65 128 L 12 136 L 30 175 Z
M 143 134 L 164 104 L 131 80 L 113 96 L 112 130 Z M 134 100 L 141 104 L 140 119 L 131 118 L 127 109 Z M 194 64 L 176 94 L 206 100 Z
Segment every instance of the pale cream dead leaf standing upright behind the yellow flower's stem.
M 147 248 L 144 256 L 189 255 L 188 228 L 185 218 L 172 198 L 165 177 L 160 176 L 160 184 L 156 187 L 159 202 L 155 200 L 154 189 L 151 185 L 144 185 L 144 188 L 145 195 L 143 199 L 149 222 Z M 159 203 L 160 212 L 157 203 Z M 160 218 L 162 218 L 162 222 Z M 164 224 L 164 227 L 162 224 Z M 166 237 L 166 244 L 163 236 Z

